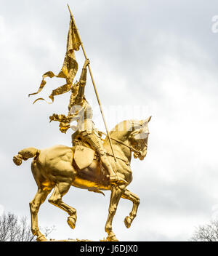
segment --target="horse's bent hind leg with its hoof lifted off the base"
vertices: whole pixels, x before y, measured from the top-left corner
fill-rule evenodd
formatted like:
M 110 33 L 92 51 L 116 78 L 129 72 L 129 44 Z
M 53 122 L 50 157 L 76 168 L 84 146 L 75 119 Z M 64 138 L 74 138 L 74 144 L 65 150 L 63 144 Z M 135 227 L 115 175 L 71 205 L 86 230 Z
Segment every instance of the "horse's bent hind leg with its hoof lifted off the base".
M 71 183 L 57 183 L 52 196 L 49 198 L 49 203 L 54 204 L 56 207 L 68 212 L 68 225 L 70 228 L 75 228 L 76 225 L 76 209 L 70 207 L 62 201 L 62 196 L 68 193 Z

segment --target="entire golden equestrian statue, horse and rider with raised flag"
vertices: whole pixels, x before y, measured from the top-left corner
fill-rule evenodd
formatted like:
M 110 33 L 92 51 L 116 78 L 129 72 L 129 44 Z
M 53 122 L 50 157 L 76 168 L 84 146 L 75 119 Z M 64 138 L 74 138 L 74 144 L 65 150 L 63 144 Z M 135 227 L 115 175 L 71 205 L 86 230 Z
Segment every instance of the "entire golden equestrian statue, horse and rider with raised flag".
M 66 79 L 66 84 L 53 90 L 49 98 L 53 102 L 55 95 L 71 90 L 68 115 L 54 113 L 50 116 L 50 121 L 59 121 L 60 131 L 63 133 L 67 132 L 69 128 L 75 131 L 72 135 L 72 147 L 55 145 L 41 150 L 25 148 L 13 158 L 17 165 L 22 164 L 23 160 L 33 158 L 31 170 L 36 180 L 38 191 L 30 202 L 31 230 L 33 235 L 37 237 L 37 241 L 47 241 L 44 234 L 39 230 L 38 212 L 39 207 L 47 199 L 52 189 L 54 191 L 48 201 L 68 213 L 68 225 L 70 225 L 70 228 L 75 228 L 76 225 L 76 209 L 65 204 L 62 201 L 62 196 L 68 193 L 71 185 L 102 194 L 104 194 L 102 191 L 111 191 L 108 219 L 105 224 L 105 232 L 108 233 L 107 241 L 118 241 L 115 233 L 113 233 L 112 222 L 119 200 L 121 198 L 128 199 L 133 203 L 132 211 L 124 219 L 126 228 L 131 226 L 140 204 L 139 197 L 127 190 L 126 187 L 132 182 L 132 169 L 130 167 L 132 153 L 135 159 L 138 158 L 140 160 L 143 160 L 147 154 L 148 122 L 151 117 L 142 120 L 122 121 L 110 132 L 108 132 L 105 124 L 107 133 L 105 134 L 105 140 L 102 139 L 104 132 L 100 132 L 94 127 L 92 107 L 84 97 L 88 67 L 100 105 L 89 66 L 89 59 L 87 59 L 85 52 L 86 60 L 80 79 L 76 84 L 73 84 L 73 78 L 78 70 L 74 50 L 78 50 L 80 45 L 84 51 L 75 20 L 70 12 L 67 52 L 62 70 L 57 76 L 52 71 L 44 73 L 38 92 L 31 94 L 35 95 L 41 92 L 41 89 L 46 84 L 44 78 L 47 76 Z M 44 99 L 39 98 L 37 100 Z M 102 113 L 101 105 L 100 110 Z M 102 118 L 105 123 L 103 113 Z M 76 126 L 73 126 L 73 121 L 77 122 Z

